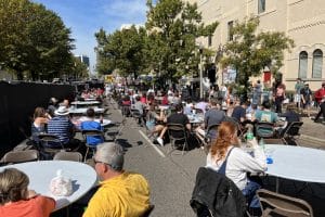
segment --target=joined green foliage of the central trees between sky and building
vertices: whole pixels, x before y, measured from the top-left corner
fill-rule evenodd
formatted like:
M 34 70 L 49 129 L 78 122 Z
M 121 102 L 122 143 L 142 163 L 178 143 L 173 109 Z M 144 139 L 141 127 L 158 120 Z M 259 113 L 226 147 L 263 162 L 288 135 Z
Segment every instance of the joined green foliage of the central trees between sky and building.
M 100 29 L 95 34 L 96 71 L 104 74 L 118 68 L 122 75 L 134 77 L 155 72 L 172 80 L 197 72 L 199 55 L 195 40 L 212 35 L 218 23 L 205 26 L 197 5 L 181 0 L 159 0 L 155 5 L 148 0 L 146 5 L 145 28 L 132 27 L 112 35 Z

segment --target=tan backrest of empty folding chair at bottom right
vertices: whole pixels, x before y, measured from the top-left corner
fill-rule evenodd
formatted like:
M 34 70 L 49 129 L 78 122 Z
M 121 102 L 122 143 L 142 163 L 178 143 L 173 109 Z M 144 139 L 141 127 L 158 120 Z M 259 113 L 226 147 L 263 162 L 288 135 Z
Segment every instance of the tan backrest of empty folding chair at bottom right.
M 265 189 L 257 191 L 262 216 L 313 217 L 313 209 L 301 199 L 275 193 Z

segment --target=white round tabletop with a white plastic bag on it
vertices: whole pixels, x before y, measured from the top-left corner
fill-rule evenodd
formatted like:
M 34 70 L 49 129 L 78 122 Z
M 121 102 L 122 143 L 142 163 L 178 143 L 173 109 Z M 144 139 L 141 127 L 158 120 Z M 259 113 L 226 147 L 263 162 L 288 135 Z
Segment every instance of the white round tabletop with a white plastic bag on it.
M 16 168 L 24 171 L 29 178 L 28 189 L 53 197 L 56 202 L 55 210 L 78 201 L 95 184 L 98 178 L 95 170 L 89 165 L 69 161 L 40 161 L 14 164 L 0 167 L 0 171 L 4 168 Z M 69 196 L 54 196 L 50 192 L 50 182 L 56 177 L 58 169 L 63 170 L 62 175 L 64 177 L 73 181 L 73 194 Z

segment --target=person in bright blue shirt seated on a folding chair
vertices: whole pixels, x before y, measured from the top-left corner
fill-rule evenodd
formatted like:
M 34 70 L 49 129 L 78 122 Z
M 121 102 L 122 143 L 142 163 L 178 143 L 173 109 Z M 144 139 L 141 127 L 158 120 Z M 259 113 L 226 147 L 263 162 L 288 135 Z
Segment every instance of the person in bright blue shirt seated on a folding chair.
M 88 129 L 96 129 L 103 131 L 103 127 L 100 123 L 94 120 L 95 112 L 92 107 L 87 110 L 87 118 L 88 120 L 82 122 L 80 128 L 82 130 Z M 99 143 L 103 143 L 104 138 L 100 136 L 87 136 L 87 144 L 96 145 Z

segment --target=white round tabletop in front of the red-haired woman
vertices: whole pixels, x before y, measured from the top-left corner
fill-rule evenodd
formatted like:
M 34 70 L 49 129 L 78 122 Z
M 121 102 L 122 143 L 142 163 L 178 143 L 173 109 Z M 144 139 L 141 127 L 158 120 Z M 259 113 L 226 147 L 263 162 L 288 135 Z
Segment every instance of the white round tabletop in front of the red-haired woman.
M 269 175 L 292 180 L 325 183 L 325 151 L 303 146 L 266 144 L 273 149 Z

